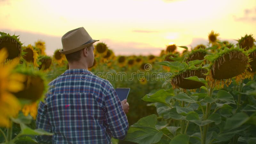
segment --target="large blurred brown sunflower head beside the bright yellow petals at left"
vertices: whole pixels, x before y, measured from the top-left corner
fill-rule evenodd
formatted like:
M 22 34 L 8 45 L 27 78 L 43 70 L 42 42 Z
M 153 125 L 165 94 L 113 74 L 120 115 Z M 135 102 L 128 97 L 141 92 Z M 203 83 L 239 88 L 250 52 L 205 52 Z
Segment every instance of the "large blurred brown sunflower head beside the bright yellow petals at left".
M 23 82 L 25 88 L 13 94 L 19 99 L 30 100 L 31 102 L 42 100 L 47 89 L 44 74 L 32 68 L 18 68 L 16 72 L 25 76 Z

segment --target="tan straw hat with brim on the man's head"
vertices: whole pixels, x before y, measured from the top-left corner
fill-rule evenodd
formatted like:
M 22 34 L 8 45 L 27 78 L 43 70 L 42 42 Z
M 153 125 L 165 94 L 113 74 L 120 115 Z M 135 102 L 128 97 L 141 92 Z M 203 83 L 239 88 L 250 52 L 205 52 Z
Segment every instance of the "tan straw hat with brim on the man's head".
M 76 28 L 61 37 L 63 49 L 59 52 L 63 54 L 77 52 L 97 41 L 99 40 L 92 39 L 84 27 Z

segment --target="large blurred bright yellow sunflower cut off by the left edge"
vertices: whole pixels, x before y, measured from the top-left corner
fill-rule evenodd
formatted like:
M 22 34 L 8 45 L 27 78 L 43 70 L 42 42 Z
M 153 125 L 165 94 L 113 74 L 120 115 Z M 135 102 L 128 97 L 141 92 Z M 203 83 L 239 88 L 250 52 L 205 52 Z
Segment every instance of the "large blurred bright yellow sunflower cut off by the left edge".
M 5 48 L 0 50 L 0 126 L 9 127 L 9 117 L 18 114 L 21 106 L 19 100 L 12 94 L 24 88 L 24 76 L 13 73 L 13 68 L 18 64 L 18 60 L 9 61 L 4 65 L 5 59 L 8 57 Z

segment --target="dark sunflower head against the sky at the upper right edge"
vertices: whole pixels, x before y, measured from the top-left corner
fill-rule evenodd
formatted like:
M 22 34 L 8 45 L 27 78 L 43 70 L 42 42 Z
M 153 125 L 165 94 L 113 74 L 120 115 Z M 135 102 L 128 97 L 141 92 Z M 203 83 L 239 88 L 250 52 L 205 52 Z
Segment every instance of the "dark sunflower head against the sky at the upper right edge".
M 246 50 L 249 50 L 254 46 L 255 39 L 251 35 L 245 35 L 244 37 L 241 37 L 241 39 L 238 40 L 238 44 L 240 48 L 245 48 Z

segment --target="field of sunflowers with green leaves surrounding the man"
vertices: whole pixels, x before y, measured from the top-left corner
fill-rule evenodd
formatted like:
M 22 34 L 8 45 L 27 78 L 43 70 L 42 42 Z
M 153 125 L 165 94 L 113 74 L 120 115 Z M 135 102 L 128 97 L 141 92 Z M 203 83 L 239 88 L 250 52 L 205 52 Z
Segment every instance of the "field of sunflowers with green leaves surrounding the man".
M 37 107 L 47 84 L 68 69 L 45 42 L 23 45 L 0 32 L 0 143 L 36 144 Z M 207 45 L 182 53 L 175 44 L 160 55 L 122 56 L 97 43 L 88 68 L 117 87 L 131 88 L 127 98 L 129 130 L 113 144 L 254 144 L 256 141 L 256 47 L 253 35 L 237 44 L 211 31 Z

